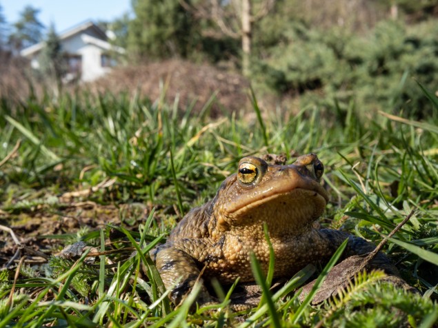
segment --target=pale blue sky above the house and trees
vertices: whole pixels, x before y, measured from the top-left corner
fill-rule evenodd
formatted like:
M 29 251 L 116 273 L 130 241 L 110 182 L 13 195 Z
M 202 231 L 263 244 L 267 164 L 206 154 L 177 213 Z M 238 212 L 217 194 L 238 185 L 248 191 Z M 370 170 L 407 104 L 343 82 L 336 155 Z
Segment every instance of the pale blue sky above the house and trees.
M 112 21 L 131 10 L 131 0 L 0 0 L 8 23 L 17 21 L 19 12 L 28 5 L 41 10 L 41 23 L 47 27 L 53 22 L 57 32 L 89 19 Z

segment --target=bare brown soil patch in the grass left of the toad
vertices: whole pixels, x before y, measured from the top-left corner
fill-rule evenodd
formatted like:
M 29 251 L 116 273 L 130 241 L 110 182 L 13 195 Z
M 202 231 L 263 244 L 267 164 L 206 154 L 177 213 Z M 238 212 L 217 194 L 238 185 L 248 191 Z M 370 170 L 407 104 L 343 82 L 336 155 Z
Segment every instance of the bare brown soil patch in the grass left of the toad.
M 145 205 L 137 203 L 116 207 L 90 201 L 66 203 L 57 209 L 43 206 L 14 215 L 0 212 L 0 225 L 10 227 L 20 243 L 18 245 L 10 233 L 0 229 L 0 267 L 11 260 L 10 265 L 17 263 L 25 255 L 25 263 L 45 263 L 50 255 L 61 251 L 66 238 L 70 238 L 71 243 L 77 240 L 77 233 L 83 227 L 90 231 L 108 223 L 120 225 L 121 216 L 137 218 L 123 225 L 138 226 L 139 222 L 146 221 L 147 212 Z

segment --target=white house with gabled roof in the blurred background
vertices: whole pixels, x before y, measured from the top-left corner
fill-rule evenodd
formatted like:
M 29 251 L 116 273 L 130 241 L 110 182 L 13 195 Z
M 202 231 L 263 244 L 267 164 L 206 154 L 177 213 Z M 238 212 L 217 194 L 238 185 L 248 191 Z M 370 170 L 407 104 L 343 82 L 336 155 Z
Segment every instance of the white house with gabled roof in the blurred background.
M 61 48 L 68 64 L 66 81 L 79 79 L 93 81 L 103 76 L 115 65 L 111 53 L 123 54 L 123 48 L 108 42 L 108 35 L 92 21 L 87 21 L 59 35 Z M 30 60 L 32 68 L 39 68 L 39 56 L 46 45 L 40 42 L 21 50 L 22 57 Z

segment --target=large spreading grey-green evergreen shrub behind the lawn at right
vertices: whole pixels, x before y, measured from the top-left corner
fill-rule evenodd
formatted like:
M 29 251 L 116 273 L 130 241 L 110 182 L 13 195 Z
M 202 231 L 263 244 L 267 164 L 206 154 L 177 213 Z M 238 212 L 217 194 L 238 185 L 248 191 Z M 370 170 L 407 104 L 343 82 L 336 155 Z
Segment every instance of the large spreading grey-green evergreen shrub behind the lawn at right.
M 284 42 L 268 50 L 256 79 L 272 90 L 303 94 L 317 89 L 325 96 L 364 110 L 399 110 L 410 102 L 410 114 L 430 114 L 417 82 L 435 92 L 438 85 L 438 25 L 433 21 L 406 26 L 381 21 L 363 37 L 341 28 L 321 31 L 294 23 Z

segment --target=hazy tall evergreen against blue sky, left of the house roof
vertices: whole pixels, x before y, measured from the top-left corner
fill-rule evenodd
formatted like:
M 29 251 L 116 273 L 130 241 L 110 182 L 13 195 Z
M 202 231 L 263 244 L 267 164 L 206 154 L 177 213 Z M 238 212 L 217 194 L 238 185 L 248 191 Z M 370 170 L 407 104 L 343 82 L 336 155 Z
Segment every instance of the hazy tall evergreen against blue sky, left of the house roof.
M 43 39 L 44 25 L 39 21 L 39 9 L 26 6 L 20 13 L 20 19 L 12 25 L 9 44 L 15 52 L 34 45 Z

